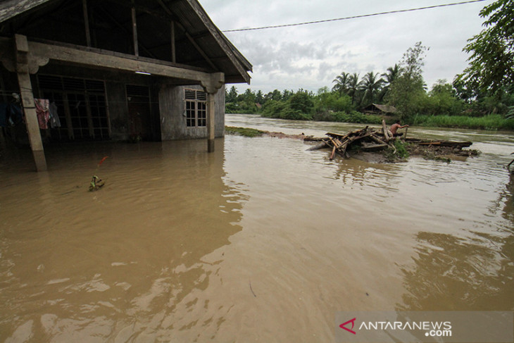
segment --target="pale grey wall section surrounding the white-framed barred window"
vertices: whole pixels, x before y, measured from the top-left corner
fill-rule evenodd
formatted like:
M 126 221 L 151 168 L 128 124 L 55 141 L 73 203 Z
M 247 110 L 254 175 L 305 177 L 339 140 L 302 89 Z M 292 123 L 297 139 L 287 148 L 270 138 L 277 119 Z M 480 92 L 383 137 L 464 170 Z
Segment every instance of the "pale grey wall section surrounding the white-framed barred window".
M 161 113 L 161 139 L 207 138 L 207 127 L 187 127 L 184 89 L 200 89 L 199 86 L 163 86 L 159 92 Z M 215 137 L 225 132 L 225 85 L 215 95 Z

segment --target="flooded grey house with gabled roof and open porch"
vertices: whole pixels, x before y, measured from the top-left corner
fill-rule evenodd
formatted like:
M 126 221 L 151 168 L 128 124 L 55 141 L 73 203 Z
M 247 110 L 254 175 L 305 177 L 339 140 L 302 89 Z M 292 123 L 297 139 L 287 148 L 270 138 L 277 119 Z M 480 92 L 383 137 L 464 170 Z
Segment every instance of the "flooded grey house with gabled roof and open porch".
M 225 83 L 252 68 L 196 0 L 2 1 L 0 61 L 0 101 L 20 94 L 37 170 L 43 140 L 206 138 L 213 151 Z

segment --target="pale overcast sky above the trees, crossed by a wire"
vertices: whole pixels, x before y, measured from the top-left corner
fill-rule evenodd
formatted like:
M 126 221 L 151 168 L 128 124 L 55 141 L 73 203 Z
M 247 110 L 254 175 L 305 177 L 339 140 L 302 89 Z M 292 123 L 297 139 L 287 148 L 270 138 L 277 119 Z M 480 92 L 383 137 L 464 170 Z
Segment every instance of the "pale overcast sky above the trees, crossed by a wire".
M 200 0 L 222 31 L 304 23 L 405 10 L 463 0 Z M 384 73 L 416 42 L 430 47 L 423 76 L 429 87 L 468 66 L 462 49 L 482 30 L 479 11 L 493 0 L 293 27 L 225 32 L 253 65 L 251 85 L 264 93 L 299 88 L 318 92 L 341 72 Z M 229 85 L 230 87 L 230 85 Z

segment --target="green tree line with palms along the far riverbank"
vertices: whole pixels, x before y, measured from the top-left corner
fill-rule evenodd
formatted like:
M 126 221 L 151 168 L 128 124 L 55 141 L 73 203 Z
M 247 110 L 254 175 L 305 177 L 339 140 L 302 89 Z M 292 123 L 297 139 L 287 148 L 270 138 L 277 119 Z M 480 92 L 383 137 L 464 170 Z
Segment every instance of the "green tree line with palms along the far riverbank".
M 343 71 L 331 88 L 317 93 L 246 89 L 238 94 L 232 86 L 225 90 L 225 109 L 283 119 L 380 123 L 381 117 L 365 115 L 365 110 L 371 104 L 387 104 L 396 108 L 396 118 L 410 124 L 437 125 L 439 119 L 456 123 L 442 126 L 469 126 L 463 124 L 470 123 L 468 118 L 483 118 L 475 119 L 482 123 L 478 127 L 514 129 L 514 1 L 498 0 L 480 15 L 486 18 L 484 30 L 463 49 L 470 54 L 469 66 L 451 83 L 438 80 L 428 89 L 422 68 L 429 48 L 417 42 L 384 73 Z

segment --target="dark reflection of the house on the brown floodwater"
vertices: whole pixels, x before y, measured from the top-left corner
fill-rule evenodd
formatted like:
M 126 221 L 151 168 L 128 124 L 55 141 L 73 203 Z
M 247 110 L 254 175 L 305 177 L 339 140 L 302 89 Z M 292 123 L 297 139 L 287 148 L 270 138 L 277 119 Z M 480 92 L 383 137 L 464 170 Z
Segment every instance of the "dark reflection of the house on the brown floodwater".
M 3 173 L 1 338 L 125 342 L 154 332 L 157 313 L 178 325 L 208 286 L 199 260 L 242 229 L 222 142 L 201 143 L 68 147 L 47 151 L 49 173 Z M 87 192 L 104 155 L 106 186 Z

